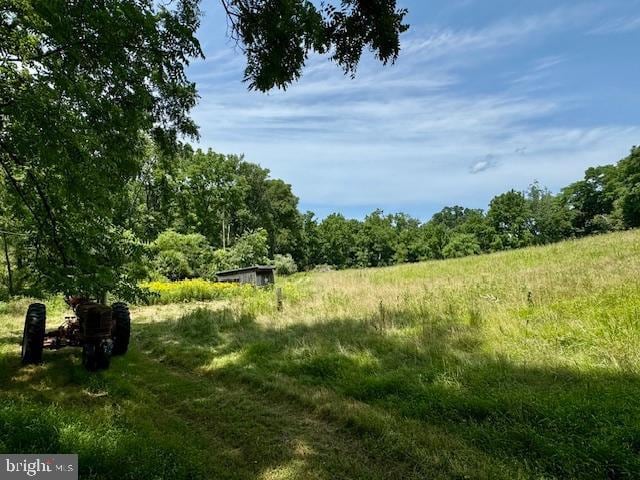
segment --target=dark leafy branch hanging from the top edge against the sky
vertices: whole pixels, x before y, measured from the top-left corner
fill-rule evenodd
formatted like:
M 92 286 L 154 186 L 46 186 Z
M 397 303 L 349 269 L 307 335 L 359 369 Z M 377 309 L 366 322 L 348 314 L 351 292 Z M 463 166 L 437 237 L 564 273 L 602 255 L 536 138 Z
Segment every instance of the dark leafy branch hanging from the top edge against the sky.
M 396 0 L 222 0 L 231 35 L 247 57 L 249 88 L 286 88 L 300 78 L 310 53 L 329 54 L 354 74 L 369 48 L 383 63 L 400 53 L 405 9 Z

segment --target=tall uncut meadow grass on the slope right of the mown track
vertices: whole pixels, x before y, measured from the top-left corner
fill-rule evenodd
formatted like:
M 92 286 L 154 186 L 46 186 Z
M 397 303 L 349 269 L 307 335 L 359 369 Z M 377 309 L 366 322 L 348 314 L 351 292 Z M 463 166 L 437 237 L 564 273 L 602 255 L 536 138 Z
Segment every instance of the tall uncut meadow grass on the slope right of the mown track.
M 197 354 L 155 351 L 181 368 L 286 392 L 363 435 L 394 432 L 385 448 L 401 445 L 423 467 L 433 461 L 424 449 L 443 440 L 419 432 L 442 428 L 456 438 L 445 450 L 479 446 L 459 454 L 465 465 L 449 464 L 457 474 L 634 478 L 639 275 L 637 231 L 327 272 L 298 277 L 306 296 L 283 312 L 253 299 L 255 323 Z M 234 305 L 247 313 L 247 302 Z

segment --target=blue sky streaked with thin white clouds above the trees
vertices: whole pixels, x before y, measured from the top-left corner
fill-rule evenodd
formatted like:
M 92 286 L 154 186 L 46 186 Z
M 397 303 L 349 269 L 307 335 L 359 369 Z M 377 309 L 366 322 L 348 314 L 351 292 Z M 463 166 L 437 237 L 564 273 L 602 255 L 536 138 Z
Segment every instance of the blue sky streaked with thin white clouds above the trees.
M 309 59 L 285 92 L 250 92 L 219 2 L 189 76 L 201 148 L 244 154 L 300 209 L 422 220 L 486 208 L 534 180 L 557 192 L 640 144 L 640 0 L 398 0 L 411 28 L 394 65 L 351 79 Z

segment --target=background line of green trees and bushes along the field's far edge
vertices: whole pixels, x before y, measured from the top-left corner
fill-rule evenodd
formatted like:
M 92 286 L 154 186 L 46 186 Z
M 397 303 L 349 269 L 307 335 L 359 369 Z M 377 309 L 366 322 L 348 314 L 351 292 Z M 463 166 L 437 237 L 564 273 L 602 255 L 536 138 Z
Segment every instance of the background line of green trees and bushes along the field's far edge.
M 488 209 L 447 206 L 426 222 L 375 210 L 363 220 L 301 212 L 291 185 L 238 155 L 182 145 L 166 154 L 148 139 L 139 174 L 114 207 L 132 281 L 202 277 L 275 263 L 280 273 L 380 267 L 544 245 L 640 226 L 640 148 L 587 169 L 557 194 L 534 182 L 495 196 Z M 7 198 L 6 188 L 0 190 Z M 38 293 L 37 252 L 5 211 L 4 296 Z M 34 292 L 36 290 L 36 292 Z

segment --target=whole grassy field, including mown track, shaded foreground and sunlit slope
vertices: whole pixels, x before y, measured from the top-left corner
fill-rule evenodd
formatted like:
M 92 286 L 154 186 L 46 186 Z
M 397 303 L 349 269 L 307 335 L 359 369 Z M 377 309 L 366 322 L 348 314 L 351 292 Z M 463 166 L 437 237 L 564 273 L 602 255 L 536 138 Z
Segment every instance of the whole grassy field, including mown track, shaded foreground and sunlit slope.
M 4 306 L 0 451 L 79 453 L 82 478 L 640 478 L 639 279 L 640 231 L 301 274 L 282 312 L 136 308 L 98 374 L 21 367 Z

